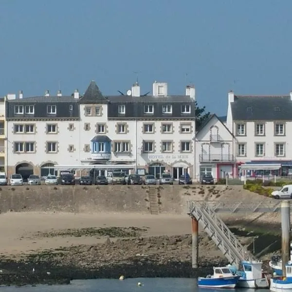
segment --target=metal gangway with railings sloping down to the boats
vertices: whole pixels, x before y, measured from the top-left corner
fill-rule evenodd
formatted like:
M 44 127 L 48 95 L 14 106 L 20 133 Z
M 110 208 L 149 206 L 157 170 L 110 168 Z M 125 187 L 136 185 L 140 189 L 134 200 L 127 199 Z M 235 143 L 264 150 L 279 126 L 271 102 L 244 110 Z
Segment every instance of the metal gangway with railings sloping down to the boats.
M 221 201 L 188 201 L 187 208 L 188 215 L 198 220 L 203 230 L 214 241 L 223 255 L 231 264 L 237 266 L 243 260 L 256 260 L 256 258 L 241 245 L 216 213 L 266 213 L 281 210 L 279 201 L 261 201 L 256 204 L 244 201 L 228 203 Z

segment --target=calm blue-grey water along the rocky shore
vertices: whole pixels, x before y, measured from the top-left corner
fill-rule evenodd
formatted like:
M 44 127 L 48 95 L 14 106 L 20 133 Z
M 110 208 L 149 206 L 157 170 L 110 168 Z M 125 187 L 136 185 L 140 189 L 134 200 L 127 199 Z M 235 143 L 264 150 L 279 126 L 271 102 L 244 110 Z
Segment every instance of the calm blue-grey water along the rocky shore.
M 144 286 L 137 286 L 141 282 Z M 0 292 L 255 292 L 251 289 L 213 290 L 197 287 L 196 279 L 189 278 L 136 278 L 119 280 L 75 280 L 71 285 L 37 286 L 37 287 L 1 287 Z M 268 292 L 269 290 L 260 290 Z

